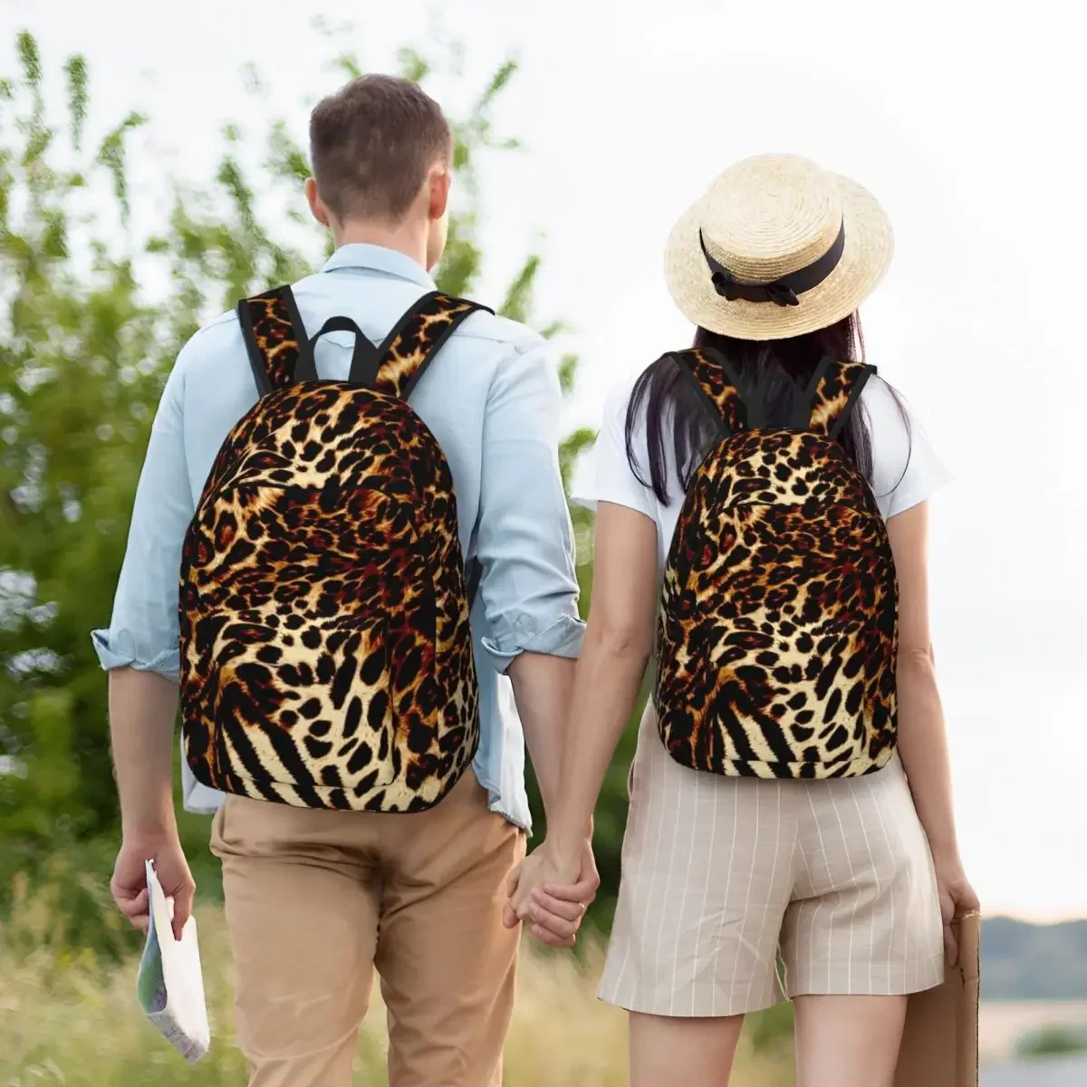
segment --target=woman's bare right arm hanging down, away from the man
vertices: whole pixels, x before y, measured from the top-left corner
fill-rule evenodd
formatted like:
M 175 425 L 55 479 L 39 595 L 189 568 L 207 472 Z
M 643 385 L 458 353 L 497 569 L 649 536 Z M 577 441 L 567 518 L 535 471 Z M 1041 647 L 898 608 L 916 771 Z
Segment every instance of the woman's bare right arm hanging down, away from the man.
M 928 503 L 887 522 L 898 574 L 898 747 L 940 887 L 948 958 L 957 960 L 954 916 L 977 909 L 959 857 L 944 710 L 928 625 Z

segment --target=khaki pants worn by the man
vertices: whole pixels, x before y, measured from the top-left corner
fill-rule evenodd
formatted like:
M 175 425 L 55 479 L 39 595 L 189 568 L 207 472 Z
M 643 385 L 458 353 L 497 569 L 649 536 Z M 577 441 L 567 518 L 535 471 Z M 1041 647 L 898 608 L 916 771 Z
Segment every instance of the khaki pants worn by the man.
M 524 850 L 471 771 L 417 814 L 227 798 L 212 851 L 250 1087 L 347 1087 L 375 966 L 389 1087 L 499 1087 L 520 936 L 503 885 Z

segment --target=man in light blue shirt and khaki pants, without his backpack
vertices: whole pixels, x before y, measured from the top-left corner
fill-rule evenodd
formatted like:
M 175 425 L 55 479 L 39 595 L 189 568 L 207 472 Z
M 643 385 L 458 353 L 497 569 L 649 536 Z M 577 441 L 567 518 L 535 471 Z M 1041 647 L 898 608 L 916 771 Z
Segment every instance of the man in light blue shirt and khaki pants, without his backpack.
M 373 342 L 434 289 L 446 242 L 452 139 L 414 84 L 355 79 L 311 118 L 305 193 L 333 234 L 324 268 L 293 288 L 312 335 L 351 317 Z M 316 348 L 342 380 L 352 338 Z M 145 860 L 188 917 L 192 878 L 174 821 L 178 570 L 216 453 L 257 401 L 235 314 L 201 329 L 166 382 L 151 432 L 109 630 L 110 720 L 123 844 L 121 910 L 147 924 Z M 384 814 L 229 796 L 213 824 L 237 971 L 237 1027 L 252 1087 L 338 1087 L 376 965 L 388 1007 L 391 1087 L 490 1087 L 513 1002 L 518 933 L 505 884 L 524 854 L 528 808 L 512 691 L 545 805 L 579 651 L 571 525 L 559 474 L 560 389 L 535 333 L 476 312 L 411 393 L 451 468 L 460 542 L 482 569 L 472 610 L 480 742 L 436 807 Z M 509 676 L 509 680 L 505 676 Z M 541 911 L 534 933 L 570 946 L 597 883 L 586 844 L 578 902 Z

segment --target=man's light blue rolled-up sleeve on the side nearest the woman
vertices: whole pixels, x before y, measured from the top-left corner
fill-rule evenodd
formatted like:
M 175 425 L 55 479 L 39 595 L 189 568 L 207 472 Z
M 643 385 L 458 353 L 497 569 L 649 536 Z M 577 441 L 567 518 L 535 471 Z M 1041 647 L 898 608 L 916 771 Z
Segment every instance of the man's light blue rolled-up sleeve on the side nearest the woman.
M 487 399 L 476 523 L 489 627 L 482 644 L 499 672 L 523 652 L 577 657 L 582 649 L 574 534 L 559 470 L 561 407 L 547 343 L 511 348 Z

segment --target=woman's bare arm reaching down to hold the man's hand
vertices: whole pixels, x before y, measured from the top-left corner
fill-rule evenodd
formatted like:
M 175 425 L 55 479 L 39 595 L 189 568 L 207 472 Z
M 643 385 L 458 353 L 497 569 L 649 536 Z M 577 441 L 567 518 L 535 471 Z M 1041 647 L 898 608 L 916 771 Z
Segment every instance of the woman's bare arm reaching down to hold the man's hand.
M 577 662 L 562 773 L 548 837 L 525 862 L 513 907 L 545 884 L 569 885 L 580 866 L 597 796 L 630 719 L 653 641 L 657 525 L 644 513 L 600 502 L 592 603 Z

